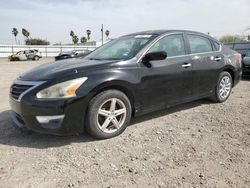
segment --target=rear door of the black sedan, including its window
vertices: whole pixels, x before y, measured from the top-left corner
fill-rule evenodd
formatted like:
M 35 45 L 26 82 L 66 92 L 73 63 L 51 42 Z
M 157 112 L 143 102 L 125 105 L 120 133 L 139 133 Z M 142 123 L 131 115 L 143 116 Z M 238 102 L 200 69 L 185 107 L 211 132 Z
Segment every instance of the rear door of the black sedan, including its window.
M 193 95 L 210 95 L 215 89 L 218 72 L 223 66 L 220 44 L 217 46 L 219 49 L 215 49 L 208 37 L 198 34 L 187 34 L 187 41 L 193 66 Z

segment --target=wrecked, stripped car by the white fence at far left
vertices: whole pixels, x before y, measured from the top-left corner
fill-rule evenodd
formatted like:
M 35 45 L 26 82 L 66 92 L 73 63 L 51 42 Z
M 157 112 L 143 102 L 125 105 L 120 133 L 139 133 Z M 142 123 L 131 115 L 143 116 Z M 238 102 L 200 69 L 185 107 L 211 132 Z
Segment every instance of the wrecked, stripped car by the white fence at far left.
M 16 54 L 9 56 L 10 61 L 25 61 L 25 60 L 35 60 L 38 61 L 42 58 L 41 53 L 38 50 L 23 50 Z

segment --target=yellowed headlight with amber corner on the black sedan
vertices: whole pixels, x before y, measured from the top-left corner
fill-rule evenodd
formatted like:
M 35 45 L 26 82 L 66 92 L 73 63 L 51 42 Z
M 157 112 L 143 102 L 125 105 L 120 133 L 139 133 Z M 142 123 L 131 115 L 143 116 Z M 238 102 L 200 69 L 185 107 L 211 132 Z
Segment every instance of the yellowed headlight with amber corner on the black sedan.
M 76 96 L 76 90 L 87 80 L 87 77 L 78 78 L 62 82 L 44 90 L 39 91 L 36 94 L 38 99 L 58 99 L 58 98 L 70 98 Z

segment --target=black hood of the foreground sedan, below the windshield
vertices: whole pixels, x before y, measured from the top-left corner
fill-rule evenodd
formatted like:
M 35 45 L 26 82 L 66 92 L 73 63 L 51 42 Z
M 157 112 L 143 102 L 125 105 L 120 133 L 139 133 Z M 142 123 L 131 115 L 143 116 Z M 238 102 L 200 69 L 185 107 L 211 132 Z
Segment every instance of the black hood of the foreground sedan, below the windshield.
M 97 61 L 82 58 L 67 59 L 40 65 L 24 74 L 18 79 L 25 81 L 46 81 L 54 78 L 61 78 L 77 73 L 87 72 L 107 68 L 107 64 L 117 61 Z

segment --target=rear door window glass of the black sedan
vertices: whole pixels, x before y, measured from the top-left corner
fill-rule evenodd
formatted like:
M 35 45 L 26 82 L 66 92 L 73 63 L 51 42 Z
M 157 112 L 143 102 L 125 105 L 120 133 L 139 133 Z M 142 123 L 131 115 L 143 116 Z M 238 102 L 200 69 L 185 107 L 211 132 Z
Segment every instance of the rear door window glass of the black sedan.
M 206 37 L 199 35 L 188 35 L 188 40 L 192 54 L 213 51 L 212 44 Z

